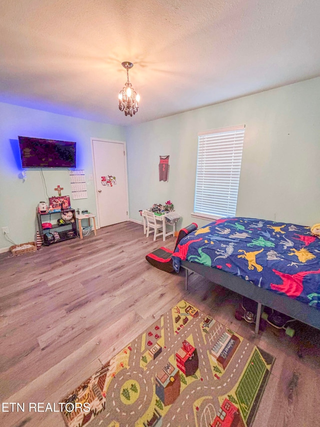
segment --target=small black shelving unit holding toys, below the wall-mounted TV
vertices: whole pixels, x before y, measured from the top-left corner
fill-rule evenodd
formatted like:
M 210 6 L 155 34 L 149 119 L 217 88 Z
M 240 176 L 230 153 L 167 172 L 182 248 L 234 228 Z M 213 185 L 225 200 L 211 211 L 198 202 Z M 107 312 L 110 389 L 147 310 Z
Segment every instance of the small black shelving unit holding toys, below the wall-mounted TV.
M 51 222 L 50 219 L 53 216 L 54 219 L 58 219 L 59 217 L 61 217 L 61 213 L 62 212 L 49 212 L 49 213 L 38 213 L 37 212 L 37 220 L 38 220 L 38 228 L 39 228 L 39 233 L 42 237 L 42 241 L 44 245 L 49 245 L 49 244 L 53 244 L 53 243 L 58 243 L 59 241 L 64 241 L 64 240 L 68 240 L 70 238 L 75 238 L 77 237 L 77 233 L 76 233 L 76 222 L 75 222 L 75 210 L 74 209 L 65 209 L 64 211 L 70 211 L 72 212 L 72 220 L 70 220 L 68 223 L 66 223 L 65 225 L 58 225 L 58 224 L 52 224 L 51 228 L 42 228 L 42 223 L 43 222 Z M 43 238 L 43 234 L 47 233 L 47 232 L 57 232 L 59 234 L 59 239 L 58 240 L 54 240 L 52 242 L 46 242 Z

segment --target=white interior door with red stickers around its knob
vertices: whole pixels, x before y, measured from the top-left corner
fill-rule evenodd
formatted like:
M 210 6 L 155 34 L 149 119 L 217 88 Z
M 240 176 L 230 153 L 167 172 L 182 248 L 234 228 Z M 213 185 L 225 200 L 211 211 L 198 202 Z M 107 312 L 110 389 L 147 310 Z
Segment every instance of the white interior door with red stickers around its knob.
M 92 139 L 99 226 L 127 220 L 125 145 Z

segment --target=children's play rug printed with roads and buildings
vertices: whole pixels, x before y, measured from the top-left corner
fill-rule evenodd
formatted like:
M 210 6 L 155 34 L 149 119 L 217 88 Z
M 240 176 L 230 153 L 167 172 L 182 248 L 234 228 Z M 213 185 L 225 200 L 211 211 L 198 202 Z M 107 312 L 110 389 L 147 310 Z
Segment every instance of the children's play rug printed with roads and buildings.
M 273 361 L 182 300 L 66 396 L 62 415 L 68 427 L 250 426 Z

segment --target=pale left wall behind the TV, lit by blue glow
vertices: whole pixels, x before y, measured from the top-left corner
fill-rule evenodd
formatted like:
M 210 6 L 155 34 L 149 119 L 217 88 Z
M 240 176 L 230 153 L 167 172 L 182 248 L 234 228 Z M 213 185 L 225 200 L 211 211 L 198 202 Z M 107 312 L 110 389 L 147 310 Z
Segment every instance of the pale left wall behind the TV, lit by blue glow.
M 92 173 L 90 137 L 125 140 L 125 129 L 3 102 L 0 102 L 0 117 L 0 227 L 9 228 L 15 244 L 33 241 L 38 202 L 48 201 L 48 197 L 55 195 L 57 185 L 63 187 L 63 194 L 70 195 L 71 199 L 70 178 L 67 168 L 43 168 L 43 177 L 38 168 L 22 169 L 18 136 L 75 141 L 76 168 L 84 169 L 88 176 Z M 92 182 L 88 182 L 87 195 L 77 200 L 75 207 L 95 212 Z M 9 245 L 0 233 L 0 248 Z

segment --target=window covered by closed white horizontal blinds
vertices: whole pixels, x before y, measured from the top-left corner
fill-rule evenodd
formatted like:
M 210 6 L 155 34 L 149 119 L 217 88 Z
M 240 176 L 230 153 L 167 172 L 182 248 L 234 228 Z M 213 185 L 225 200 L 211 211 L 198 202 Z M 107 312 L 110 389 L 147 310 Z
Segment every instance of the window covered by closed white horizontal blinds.
M 244 125 L 198 134 L 194 216 L 235 216 Z

